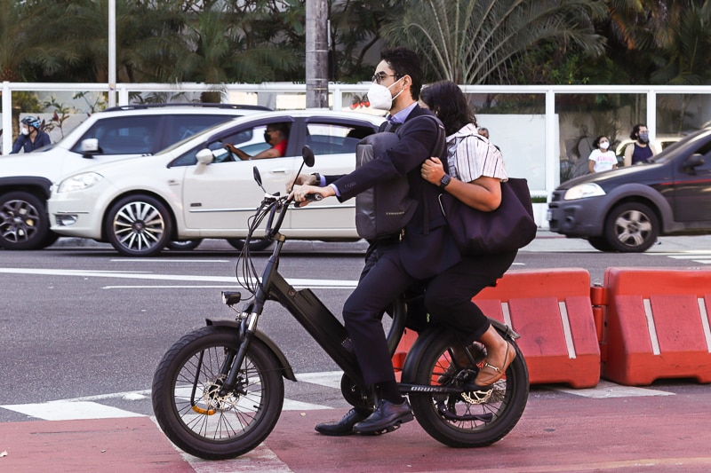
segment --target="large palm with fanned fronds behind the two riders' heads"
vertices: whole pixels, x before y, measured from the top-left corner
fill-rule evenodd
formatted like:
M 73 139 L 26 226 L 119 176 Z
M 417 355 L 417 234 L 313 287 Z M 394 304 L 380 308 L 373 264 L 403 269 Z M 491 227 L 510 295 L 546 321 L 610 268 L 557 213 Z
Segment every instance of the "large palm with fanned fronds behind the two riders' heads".
M 420 51 L 436 79 L 501 83 L 511 81 L 512 61 L 543 41 L 601 53 L 591 18 L 604 12 L 597 0 L 415 0 L 382 35 Z

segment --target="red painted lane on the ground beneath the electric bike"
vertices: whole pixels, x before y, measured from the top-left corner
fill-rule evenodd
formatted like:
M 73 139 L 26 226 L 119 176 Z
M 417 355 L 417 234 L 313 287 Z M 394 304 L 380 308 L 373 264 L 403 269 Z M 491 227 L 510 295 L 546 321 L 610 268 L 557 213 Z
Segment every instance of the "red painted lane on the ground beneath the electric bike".
M 314 425 L 343 411 L 285 412 L 265 446 L 234 461 L 188 462 L 145 417 L 0 423 L 0 452 L 9 453 L 0 471 L 708 471 L 708 398 L 534 394 L 515 430 L 481 449 L 441 445 L 417 422 L 381 437 L 328 438 Z

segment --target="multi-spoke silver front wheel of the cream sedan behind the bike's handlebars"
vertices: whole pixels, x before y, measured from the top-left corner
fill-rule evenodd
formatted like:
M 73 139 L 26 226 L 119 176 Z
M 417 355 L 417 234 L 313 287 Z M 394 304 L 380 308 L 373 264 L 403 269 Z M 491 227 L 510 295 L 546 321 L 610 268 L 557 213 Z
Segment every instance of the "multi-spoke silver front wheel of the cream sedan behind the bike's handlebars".
M 172 220 L 163 202 L 129 195 L 108 210 L 105 232 L 124 256 L 156 256 L 171 241 Z

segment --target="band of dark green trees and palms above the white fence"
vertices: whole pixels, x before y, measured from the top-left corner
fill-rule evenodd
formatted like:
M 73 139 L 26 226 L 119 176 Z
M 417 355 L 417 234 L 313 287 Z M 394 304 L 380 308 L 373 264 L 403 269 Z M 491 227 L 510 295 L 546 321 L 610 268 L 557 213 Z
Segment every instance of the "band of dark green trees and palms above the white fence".
M 302 82 L 306 1 L 118 1 L 118 81 Z M 422 53 L 428 80 L 703 84 L 710 4 L 327 0 L 331 78 L 363 81 L 379 47 L 399 44 Z M 108 80 L 108 2 L 0 0 L 0 12 L 0 80 Z

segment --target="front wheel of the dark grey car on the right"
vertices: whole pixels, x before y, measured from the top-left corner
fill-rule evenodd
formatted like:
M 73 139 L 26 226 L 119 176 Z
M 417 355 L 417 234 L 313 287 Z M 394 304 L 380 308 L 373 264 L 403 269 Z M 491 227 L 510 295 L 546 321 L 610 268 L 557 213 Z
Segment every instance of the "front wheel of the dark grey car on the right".
M 627 202 L 611 210 L 605 220 L 605 237 L 611 247 L 625 253 L 641 253 L 659 236 L 659 220 L 643 203 Z

